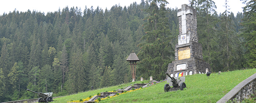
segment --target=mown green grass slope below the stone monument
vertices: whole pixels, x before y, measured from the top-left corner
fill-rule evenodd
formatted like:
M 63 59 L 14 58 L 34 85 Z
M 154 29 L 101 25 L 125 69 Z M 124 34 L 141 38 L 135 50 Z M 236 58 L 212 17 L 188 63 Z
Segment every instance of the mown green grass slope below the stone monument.
M 209 79 L 206 74 L 186 76 L 187 89 L 184 91 L 164 92 L 166 82 L 158 83 L 138 91 L 122 94 L 118 97 L 102 100 L 100 103 L 216 103 L 237 84 L 256 73 L 256 69 L 236 70 L 224 72 L 221 75 L 213 73 Z M 135 82 L 138 83 L 138 82 Z M 130 84 L 103 88 L 95 91 L 87 91 L 80 94 L 56 98 L 52 103 L 66 103 L 68 100 L 80 100 L 103 91 L 112 91 Z

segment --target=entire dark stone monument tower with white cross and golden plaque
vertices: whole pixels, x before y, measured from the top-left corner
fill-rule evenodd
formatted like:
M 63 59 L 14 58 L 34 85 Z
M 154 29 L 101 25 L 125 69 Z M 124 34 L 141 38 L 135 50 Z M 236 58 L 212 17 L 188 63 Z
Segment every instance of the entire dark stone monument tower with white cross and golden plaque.
M 175 61 L 168 65 L 167 73 L 171 76 L 205 73 L 210 64 L 203 60 L 202 45 L 197 39 L 196 10 L 186 4 L 178 10 L 179 37 L 175 48 Z

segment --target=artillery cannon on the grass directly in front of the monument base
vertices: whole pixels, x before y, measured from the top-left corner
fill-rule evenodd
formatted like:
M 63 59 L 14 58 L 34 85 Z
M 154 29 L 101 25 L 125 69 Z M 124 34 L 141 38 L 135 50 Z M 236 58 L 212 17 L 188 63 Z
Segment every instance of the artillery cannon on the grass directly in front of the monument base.
M 183 88 L 186 88 L 185 84 L 185 77 L 171 77 L 167 72 L 165 73 L 167 76 L 167 83 L 164 85 L 164 91 L 177 91 L 177 90 L 183 90 Z

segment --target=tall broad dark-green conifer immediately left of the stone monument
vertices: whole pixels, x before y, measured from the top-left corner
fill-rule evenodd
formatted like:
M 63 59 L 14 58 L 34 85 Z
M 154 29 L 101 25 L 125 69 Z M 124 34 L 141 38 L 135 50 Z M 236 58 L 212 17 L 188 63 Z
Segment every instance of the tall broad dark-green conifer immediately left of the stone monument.
M 153 76 L 156 80 L 165 79 L 165 72 L 173 56 L 174 45 L 170 41 L 168 18 L 166 17 L 168 2 L 166 0 L 149 0 L 150 6 L 145 9 L 149 15 L 145 18 L 147 22 L 144 25 L 145 35 L 142 39 L 145 42 L 139 44 L 141 47 L 137 54 L 141 60 L 138 64 L 138 72 L 142 77 L 148 78 Z

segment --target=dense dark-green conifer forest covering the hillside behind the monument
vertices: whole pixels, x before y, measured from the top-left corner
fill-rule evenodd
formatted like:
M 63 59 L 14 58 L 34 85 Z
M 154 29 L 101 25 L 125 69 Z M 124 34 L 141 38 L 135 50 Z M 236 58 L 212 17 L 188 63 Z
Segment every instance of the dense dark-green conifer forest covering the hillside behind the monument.
M 137 80 L 165 79 L 179 35 L 178 9 L 167 3 L 0 15 L 0 102 L 37 98 L 27 88 L 64 96 L 131 82 L 131 51 L 140 59 Z M 213 72 L 256 66 L 256 2 L 244 3 L 236 15 L 228 2 L 220 14 L 213 0 L 188 4 L 197 9 L 198 39 Z

